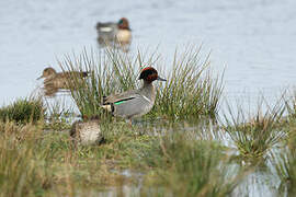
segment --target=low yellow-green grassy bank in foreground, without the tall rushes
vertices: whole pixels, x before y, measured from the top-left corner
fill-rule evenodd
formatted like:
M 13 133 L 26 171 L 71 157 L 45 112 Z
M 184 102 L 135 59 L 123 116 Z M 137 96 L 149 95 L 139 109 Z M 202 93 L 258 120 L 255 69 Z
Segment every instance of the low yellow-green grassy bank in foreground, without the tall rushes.
M 167 132 L 158 137 L 150 135 L 153 128 L 149 126 L 130 128 L 121 121 L 102 124 L 105 142 L 86 147 L 75 146 L 67 132 L 43 132 L 42 123 L 0 121 L 1 194 L 100 194 L 109 186 L 136 185 L 138 181 L 134 176 L 121 174 L 126 169 L 150 179 L 143 185 L 143 192 L 162 178 L 160 185 L 175 194 L 220 196 L 231 193 L 239 183 L 240 170 L 230 163 L 227 149 L 218 142 L 193 140 L 191 137 L 200 130 L 182 135 L 173 125 L 164 128 L 173 129 L 175 135 Z

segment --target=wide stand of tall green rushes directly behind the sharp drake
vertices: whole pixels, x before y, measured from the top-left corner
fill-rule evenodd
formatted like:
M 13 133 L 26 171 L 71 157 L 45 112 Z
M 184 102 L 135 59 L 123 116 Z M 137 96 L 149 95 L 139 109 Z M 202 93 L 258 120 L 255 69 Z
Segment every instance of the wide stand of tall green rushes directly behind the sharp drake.
M 141 86 L 137 80 L 140 70 L 152 66 L 168 81 L 155 82 L 158 94 L 155 107 L 149 113 L 151 117 L 215 117 L 223 82 L 221 77 L 213 77 L 209 57 L 203 60 L 201 48 L 189 47 L 184 53 L 175 51 L 172 66 L 166 68 L 159 66 L 159 57 L 156 53 L 127 55 L 116 49 L 107 49 L 95 56 L 93 51 L 84 50 L 80 56 L 67 56 L 59 65 L 66 71 L 90 72 L 88 79 L 72 79 L 75 88 L 71 95 L 82 116 L 104 116 L 105 112 L 100 107 L 102 97 L 138 89 Z M 167 69 L 171 71 L 166 72 Z

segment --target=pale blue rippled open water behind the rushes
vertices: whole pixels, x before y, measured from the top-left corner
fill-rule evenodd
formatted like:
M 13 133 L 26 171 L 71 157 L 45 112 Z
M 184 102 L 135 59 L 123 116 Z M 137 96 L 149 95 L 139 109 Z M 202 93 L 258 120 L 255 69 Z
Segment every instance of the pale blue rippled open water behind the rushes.
M 296 1 L 0 1 L 0 104 L 29 95 L 56 58 L 98 47 L 98 21 L 126 16 L 132 50 L 153 48 L 170 59 L 177 46 L 204 44 L 213 67 L 226 66 L 226 96 L 273 95 L 296 84 Z

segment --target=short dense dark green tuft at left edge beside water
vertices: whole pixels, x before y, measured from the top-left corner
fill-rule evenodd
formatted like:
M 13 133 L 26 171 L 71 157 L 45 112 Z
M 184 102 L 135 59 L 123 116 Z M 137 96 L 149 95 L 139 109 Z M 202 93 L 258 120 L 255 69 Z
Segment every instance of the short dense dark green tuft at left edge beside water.
M 36 123 L 45 116 L 45 107 L 39 99 L 19 99 L 0 108 L 0 120 L 18 124 Z

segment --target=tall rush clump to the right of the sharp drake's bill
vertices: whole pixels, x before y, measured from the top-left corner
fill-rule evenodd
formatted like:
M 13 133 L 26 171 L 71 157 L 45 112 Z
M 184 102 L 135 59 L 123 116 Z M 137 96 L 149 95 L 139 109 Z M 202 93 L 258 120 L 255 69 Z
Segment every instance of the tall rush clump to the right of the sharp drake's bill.
M 210 72 L 209 56 L 201 57 L 201 48 L 175 51 L 168 72 L 168 82 L 161 83 L 155 114 L 174 118 L 209 116 L 215 118 L 223 93 L 223 76 Z

